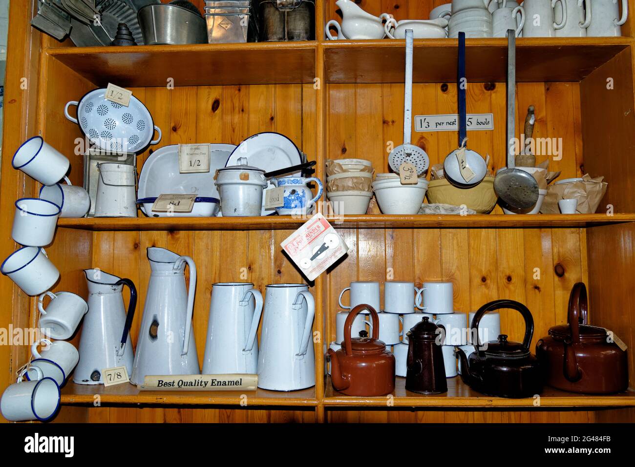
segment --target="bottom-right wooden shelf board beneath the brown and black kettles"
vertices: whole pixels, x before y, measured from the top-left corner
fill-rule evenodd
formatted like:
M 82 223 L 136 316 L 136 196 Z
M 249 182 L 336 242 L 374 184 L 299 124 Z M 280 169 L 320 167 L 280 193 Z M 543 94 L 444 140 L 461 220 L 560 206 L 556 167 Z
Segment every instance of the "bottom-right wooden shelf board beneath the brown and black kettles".
M 325 382 L 324 406 L 376 406 L 386 407 L 387 396 L 352 397 L 333 389 L 331 378 Z M 448 392 L 424 395 L 406 391 L 406 378 L 397 377 L 394 399 L 395 407 L 518 407 L 522 409 L 540 409 L 545 407 L 633 407 L 635 391 L 615 395 L 585 395 L 564 392 L 545 387 L 540 395 L 540 405 L 535 406 L 533 397 L 527 399 L 505 399 L 491 397 L 473 391 L 461 380 L 460 376 L 448 378 Z

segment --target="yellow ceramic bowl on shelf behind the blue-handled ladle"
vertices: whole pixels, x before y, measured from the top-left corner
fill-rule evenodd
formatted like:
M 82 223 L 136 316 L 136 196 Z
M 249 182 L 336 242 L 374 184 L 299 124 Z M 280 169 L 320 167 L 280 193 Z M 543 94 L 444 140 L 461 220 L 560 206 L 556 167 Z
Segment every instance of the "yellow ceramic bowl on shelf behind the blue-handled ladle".
M 498 196 L 494 191 L 494 178 L 485 177 L 472 188 L 457 188 L 446 179 L 431 180 L 426 196 L 431 204 L 464 204 L 478 214 L 488 214 L 496 205 Z

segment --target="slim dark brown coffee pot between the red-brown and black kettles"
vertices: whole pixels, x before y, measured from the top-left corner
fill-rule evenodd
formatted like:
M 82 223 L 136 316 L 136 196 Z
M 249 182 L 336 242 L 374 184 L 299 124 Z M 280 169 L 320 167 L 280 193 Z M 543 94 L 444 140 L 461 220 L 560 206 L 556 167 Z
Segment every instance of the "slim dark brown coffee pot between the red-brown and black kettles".
M 448 391 L 443 364 L 445 328 L 432 323 L 429 317 L 415 324 L 408 335 L 408 369 L 406 390 L 422 394 Z

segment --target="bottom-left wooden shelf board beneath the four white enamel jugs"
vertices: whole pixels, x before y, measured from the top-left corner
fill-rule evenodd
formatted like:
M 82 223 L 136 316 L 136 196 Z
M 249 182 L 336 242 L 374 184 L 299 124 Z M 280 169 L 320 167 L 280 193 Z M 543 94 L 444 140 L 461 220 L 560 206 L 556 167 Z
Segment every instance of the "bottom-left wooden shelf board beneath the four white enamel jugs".
M 316 406 L 315 387 L 277 392 L 258 389 L 255 391 L 140 391 L 135 385 L 104 387 L 104 385 L 78 385 L 69 381 L 62 388 L 62 404 L 93 404 L 95 395 L 102 404 L 174 404 L 174 405 L 226 405 L 237 406 Z

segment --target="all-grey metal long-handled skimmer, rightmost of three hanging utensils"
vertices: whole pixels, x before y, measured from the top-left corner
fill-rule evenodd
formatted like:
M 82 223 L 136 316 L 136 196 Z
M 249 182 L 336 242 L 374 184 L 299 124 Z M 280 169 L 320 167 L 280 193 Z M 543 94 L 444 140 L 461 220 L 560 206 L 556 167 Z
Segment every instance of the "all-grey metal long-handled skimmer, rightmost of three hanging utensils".
M 507 205 L 527 209 L 538 202 L 538 182 L 514 162 L 514 130 L 516 126 L 516 32 L 507 30 L 507 169 L 494 179 L 494 191 Z

